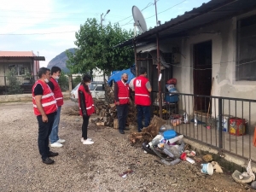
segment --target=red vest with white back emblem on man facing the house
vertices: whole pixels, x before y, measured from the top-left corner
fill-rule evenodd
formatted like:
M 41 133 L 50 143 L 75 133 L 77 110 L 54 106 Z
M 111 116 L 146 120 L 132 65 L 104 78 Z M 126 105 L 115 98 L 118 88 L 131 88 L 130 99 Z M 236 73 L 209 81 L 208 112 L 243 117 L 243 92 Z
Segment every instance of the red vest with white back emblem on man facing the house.
M 148 79 L 139 76 L 133 81 L 133 87 L 135 91 L 135 104 L 136 105 L 143 105 L 143 106 L 150 106 L 150 96 L 146 84 Z

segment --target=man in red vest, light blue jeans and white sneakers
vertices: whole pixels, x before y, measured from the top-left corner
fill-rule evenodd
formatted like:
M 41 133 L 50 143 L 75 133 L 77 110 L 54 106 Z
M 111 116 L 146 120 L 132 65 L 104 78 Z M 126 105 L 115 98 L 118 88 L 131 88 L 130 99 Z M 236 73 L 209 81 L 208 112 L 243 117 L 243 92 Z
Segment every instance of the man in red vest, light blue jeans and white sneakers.
M 49 87 L 55 94 L 55 100 L 57 102 L 58 110 L 57 114 L 55 116 L 55 122 L 52 126 L 51 133 L 49 135 L 49 145 L 53 148 L 61 148 L 63 145 L 61 143 L 64 143 L 65 140 L 59 138 L 59 123 L 60 123 L 60 117 L 61 117 L 61 106 L 63 105 L 63 95 L 61 92 L 61 87 L 58 84 L 58 79 L 60 79 L 61 76 L 61 68 L 60 67 L 52 67 L 50 70 L 51 78 L 49 80 Z

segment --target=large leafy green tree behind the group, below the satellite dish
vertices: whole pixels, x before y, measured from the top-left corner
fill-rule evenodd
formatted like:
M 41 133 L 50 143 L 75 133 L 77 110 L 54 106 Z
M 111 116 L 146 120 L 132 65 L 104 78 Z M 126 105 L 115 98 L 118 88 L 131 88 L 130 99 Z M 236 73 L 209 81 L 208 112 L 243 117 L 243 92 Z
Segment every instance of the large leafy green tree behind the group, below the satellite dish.
M 96 68 L 110 73 L 130 67 L 134 62 L 133 49 L 115 46 L 132 38 L 132 34 L 119 24 L 102 27 L 96 19 L 86 20 L 76 32 L 74 54 L 67 51 L 67 67 L 71 73 L 89 73 Z

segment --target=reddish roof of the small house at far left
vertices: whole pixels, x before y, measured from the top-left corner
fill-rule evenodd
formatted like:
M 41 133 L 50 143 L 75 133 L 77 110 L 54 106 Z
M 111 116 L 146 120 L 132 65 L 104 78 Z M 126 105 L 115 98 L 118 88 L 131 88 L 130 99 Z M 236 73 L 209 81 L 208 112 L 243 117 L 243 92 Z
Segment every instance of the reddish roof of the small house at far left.
M 37 56 L 32 51 L 0 51 L 0 58 L 29 57 L 35 61 L 45 61 L 44 56 Z

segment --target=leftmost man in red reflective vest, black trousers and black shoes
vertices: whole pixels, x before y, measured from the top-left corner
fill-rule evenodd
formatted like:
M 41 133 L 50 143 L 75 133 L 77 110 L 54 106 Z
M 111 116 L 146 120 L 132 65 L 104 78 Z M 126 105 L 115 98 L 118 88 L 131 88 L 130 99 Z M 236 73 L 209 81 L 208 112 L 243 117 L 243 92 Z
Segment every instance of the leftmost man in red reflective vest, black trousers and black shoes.
M 57 104 L 54 93 L 47 84 L 49 82 L 49 68 L 42 67 L 38 70 L 38 81 L 32 87 L 32 102 L 34 113 L 38 119 L 38 148 L 43 163 L 52 164 L 49 159 L 58 153 L 49 151 L 49 134 L 55 120 Z

